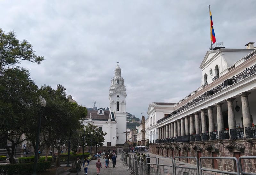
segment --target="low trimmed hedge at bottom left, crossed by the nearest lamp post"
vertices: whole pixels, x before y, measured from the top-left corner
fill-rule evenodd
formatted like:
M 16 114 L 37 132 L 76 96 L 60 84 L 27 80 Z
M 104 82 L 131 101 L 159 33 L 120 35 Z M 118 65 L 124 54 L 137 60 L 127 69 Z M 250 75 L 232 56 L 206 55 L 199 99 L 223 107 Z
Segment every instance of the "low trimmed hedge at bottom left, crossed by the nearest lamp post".
M 29 175 L 33 172 L 34 163 L 5 164 L 0 165 L 1 174 L 5 175 Z M 38 162 L 37 172 L 46 172 L 51 166 L 51 162 Z

